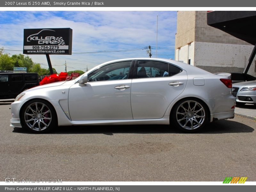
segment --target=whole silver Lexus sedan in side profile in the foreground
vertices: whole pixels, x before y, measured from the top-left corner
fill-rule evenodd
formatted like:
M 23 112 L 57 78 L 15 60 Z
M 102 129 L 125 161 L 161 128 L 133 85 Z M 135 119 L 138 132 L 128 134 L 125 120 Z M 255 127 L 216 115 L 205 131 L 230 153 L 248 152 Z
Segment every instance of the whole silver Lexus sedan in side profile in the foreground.
M 174 60 L 133 58 L 22 92 L 11 104 L 10 126 L 43 133 L 58 125 L 171 124 L 196 132 L 234 118 L 234 110 L 229 77 Z

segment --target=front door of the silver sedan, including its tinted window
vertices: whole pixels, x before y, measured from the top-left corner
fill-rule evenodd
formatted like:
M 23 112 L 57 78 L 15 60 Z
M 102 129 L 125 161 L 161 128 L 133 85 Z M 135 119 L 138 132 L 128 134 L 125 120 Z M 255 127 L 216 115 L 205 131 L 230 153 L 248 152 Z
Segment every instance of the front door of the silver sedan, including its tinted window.
M 68 107 L 72 120 L 132 119 L 132 60 L 104 65 L 90 74 L 85 86 L 70 87 Z

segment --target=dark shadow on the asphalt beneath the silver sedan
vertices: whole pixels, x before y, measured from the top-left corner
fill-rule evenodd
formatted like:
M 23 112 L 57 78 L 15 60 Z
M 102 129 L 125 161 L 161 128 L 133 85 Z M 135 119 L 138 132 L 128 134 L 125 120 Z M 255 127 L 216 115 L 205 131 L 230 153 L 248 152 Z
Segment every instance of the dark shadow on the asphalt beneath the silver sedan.
M 230 120 L 219 120 L 206 124 L 204 129 L 194 134 L 220 134 L 220 133 L 249 133 L 254 129 L 248 125 Z M 13 132 L 31 133 L 23 128 L 15 127 Z M 60 126 L 46 134 L 105 134 L 135 133 L 135 134 L 190 134 L 168 125 L 87 125 L 87 126 Z M 31 133 L 33 134 L 33 133 Z

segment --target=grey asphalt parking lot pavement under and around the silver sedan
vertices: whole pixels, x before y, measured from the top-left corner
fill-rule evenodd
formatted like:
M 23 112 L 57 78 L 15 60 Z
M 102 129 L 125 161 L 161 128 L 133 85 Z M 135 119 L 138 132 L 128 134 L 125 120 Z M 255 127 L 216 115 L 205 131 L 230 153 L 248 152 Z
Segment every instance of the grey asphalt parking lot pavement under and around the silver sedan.
M 196 134 L 166 125 L 69 126 L 31 134 L 9 127 L 11 102 L 0 101 L 0 181 L 256 181 L 256 123 L 250 118 L 236 115 Z

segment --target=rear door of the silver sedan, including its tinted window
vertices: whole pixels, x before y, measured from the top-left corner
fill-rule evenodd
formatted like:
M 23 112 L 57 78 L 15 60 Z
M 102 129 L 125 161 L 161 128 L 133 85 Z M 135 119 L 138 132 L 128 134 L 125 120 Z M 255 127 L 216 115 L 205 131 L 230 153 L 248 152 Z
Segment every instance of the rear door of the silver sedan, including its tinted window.
M 170 103 L 185 89 L 186 71 L 155 60 L 135 62 L 131 89 L 133 119 L 162 118 Z

